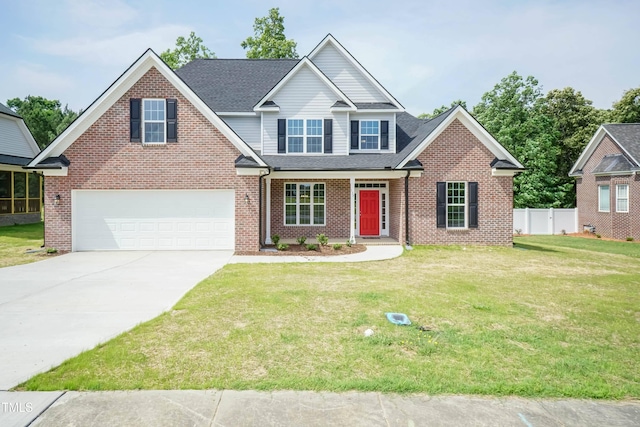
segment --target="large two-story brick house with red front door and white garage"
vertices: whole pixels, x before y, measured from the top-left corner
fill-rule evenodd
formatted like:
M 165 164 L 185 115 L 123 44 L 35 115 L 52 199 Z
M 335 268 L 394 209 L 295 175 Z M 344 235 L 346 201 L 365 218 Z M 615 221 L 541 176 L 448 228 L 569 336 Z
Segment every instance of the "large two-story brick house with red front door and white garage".
M 522 165 L 462 107 L 419 120 L 331 35 L 300 60 L 144 53 L 30 168 L 62 251 L 271 236 L 512 242 Z M 57 204 L 56 204 L 57 203 Z

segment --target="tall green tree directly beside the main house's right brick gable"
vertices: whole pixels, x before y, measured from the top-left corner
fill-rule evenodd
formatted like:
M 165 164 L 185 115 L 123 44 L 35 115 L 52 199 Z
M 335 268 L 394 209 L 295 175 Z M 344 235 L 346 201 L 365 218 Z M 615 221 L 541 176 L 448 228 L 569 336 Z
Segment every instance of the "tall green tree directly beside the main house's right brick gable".
M 485 93 L 473 115 L 526 168 L 514 177 L 514 207 L 561 207 L 573 183 L 558 178 L 555 122 L 542 109 L 542 88 L 515 71 Z

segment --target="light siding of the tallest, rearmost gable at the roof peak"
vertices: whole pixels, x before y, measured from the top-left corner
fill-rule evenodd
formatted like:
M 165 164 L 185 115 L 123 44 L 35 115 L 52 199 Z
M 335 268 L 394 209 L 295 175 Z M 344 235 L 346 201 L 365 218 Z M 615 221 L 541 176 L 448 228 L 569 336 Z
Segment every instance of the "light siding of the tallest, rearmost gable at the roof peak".
M 325 45 L 313 63 L 353 102 L 389 102 L 332 44 Z

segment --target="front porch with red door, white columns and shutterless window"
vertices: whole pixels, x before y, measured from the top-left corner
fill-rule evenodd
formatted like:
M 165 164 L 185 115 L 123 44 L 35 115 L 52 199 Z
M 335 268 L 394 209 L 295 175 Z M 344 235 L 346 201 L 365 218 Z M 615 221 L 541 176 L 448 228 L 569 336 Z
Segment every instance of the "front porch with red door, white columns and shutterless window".
M 372 174 L 373 175 L 373 174 Z M 406 174 L 405 174 L 406 175 Z M 324 234 L 331 244 L 397 245 L 404 241 L 403 178 L 265 177 L 261 242 L 316 243 Z

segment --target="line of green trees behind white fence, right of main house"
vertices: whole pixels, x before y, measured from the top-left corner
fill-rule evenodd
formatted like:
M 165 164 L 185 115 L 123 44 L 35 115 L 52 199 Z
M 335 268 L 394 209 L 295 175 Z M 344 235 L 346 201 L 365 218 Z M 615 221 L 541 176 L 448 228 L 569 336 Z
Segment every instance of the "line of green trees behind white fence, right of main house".
M 457 100 L 451 106 L 466 104 Z M 451 107 L 436 108 L 421 118 Z M 515 176 L 515 208 L 572 208 L 569 171 L 603 123 L 640 123 L 640 88 L 624 92 L 611 109 L 597 109 L 571 87 L 543 94 L 538 80 L 513 72 L 484 95 L 471 114 L 526 168 Z

